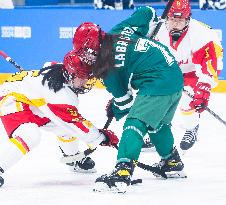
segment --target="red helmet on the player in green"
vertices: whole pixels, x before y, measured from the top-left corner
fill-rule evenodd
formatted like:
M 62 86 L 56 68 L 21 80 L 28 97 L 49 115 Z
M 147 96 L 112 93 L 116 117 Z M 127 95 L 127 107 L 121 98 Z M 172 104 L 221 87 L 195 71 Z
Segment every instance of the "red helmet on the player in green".
M 96 61 L 104 32 L 91 22 L 82 23 L 75 31 L 73 46 L 82 62 L 92 65 Z

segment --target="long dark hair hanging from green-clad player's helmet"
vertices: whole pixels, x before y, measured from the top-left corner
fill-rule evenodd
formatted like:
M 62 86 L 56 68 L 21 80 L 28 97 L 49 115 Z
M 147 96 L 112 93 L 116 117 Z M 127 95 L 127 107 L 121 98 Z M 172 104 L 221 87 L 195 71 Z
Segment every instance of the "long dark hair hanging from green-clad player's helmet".
M 97 59 L 93 66 L 93 75 L 98 79 L 103 79 L 109 70 L 111 70 L 115 65 L 113 55 L 114 36 L 106 33 L 104 39 L 100 40 L 100 43 L 101 48 L 97 54 Z

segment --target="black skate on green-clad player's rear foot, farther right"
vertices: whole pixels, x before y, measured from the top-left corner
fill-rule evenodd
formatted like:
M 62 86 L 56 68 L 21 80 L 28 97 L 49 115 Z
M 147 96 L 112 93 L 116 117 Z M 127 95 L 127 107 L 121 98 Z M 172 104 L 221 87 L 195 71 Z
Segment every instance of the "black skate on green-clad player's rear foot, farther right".
M 165 172 L 167 178 L 187 178 L 184 173 L 184 164 L 180 159 L 179 153 L 176 148 L 173 149 L 171 155 L 167 159 L 162 159 L 159 163 L 153 165 L 153 167 L 159 167 Z M 160 177 L 158 174 L 154 174 L 156 177 Z

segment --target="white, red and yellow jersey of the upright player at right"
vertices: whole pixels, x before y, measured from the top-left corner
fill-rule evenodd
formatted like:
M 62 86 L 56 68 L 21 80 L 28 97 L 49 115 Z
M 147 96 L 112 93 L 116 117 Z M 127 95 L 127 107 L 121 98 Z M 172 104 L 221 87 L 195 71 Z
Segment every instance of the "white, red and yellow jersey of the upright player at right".
M 223 49 L 215 30 L 191 19 L 186 32 L 176 44 L 165 24 L 160 28 L 156 40 L 166 45 L 175 56 L 185 80 L 185 86 L 199 82 L 215 87 L 223 68 Z

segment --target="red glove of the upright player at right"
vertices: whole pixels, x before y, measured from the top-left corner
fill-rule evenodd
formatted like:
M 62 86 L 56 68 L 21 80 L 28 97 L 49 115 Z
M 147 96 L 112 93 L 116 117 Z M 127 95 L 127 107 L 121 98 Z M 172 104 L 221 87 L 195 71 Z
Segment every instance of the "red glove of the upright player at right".
M 194 89 L 194 98 L 190 103 L 192 109 L 195 109 L 198 113 L 201 113 L 208 106 L 210 97 L 211 86 L 209 83 L 199 82 Z

